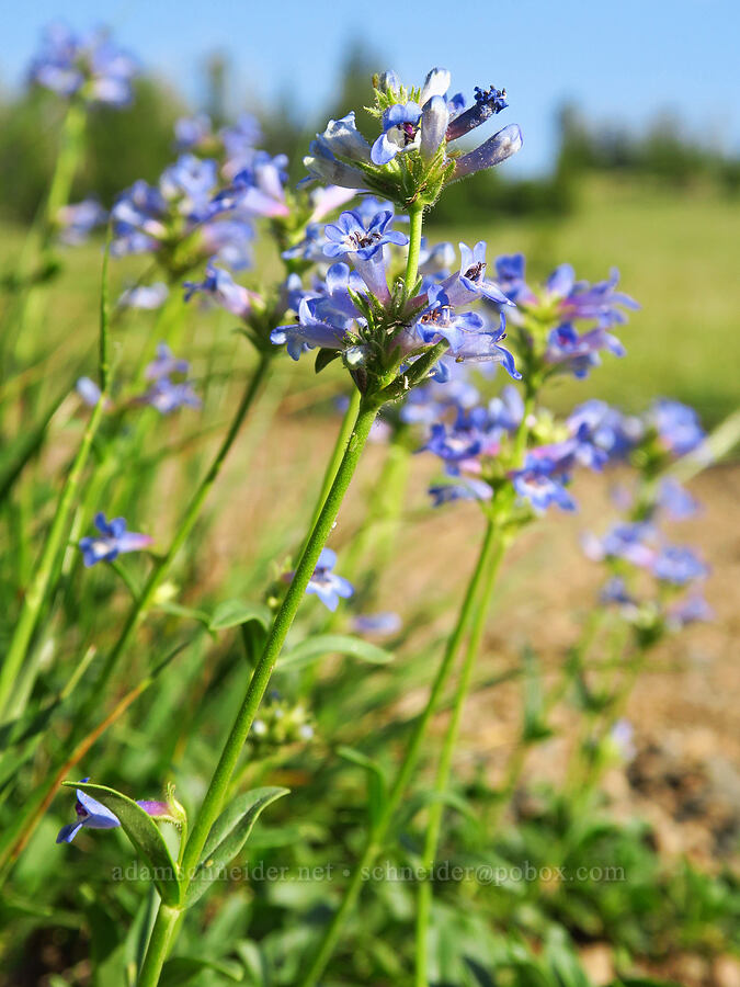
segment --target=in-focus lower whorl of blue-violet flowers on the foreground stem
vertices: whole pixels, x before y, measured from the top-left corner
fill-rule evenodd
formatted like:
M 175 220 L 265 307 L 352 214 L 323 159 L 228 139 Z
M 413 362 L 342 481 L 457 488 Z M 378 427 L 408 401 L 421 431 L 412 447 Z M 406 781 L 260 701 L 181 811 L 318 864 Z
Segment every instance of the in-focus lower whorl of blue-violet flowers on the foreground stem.
M 400 284 L 389 283 L 388 248 L 408 242 L 392 223 L 388 209 L 352 209 L 328 224 L 322 250 L 335 263 L 312 291 L 298 296 L 297 320 L 277 327 L 272 341 L 285 343 L 294 360 L 314 348 L 341 354 L 361 389 L 368 377 L 382 379 L 442 342 L 456 361 L 501 363 L 519 378 L 512 354 L 500 344 L 503 315 L 491 325 L 480 313 L 467 310 L 481 298 L 509 304 L 486 277 L 486 245 L 460 245 L 459 270 L 443 280 L 440 272 L 423 277 L 423 291 L 406 299 Z M 432 256 L 428 251 L 430 260 Z M 444 259 L 449 259 L 446 245 Z

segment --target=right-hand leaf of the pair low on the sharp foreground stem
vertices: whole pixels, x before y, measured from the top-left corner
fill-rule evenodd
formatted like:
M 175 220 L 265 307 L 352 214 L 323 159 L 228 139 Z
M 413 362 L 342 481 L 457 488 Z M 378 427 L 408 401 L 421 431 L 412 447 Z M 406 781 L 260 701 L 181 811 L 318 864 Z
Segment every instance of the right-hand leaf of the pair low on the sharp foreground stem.
M 288 789 L 252 789 L 237 796 L 210 827 L 203 856 L 185 894 L 190 908 L 205 894 L 214 877 L 241 851 L 262 809 L 288 794 Z

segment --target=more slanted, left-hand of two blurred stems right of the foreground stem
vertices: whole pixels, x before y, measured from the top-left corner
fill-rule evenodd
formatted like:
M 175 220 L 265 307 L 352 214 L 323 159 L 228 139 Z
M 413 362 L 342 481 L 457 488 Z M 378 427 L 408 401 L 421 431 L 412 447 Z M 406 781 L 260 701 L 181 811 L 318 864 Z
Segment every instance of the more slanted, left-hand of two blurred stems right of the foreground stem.
M 478 595 L 483 576 L 491 564 L 494 544 L 493 525 L 489 523 L 486 529 L 486 536 L 480 548 L 478 561 L 476 563 L 476 567 L 465 593 L 465 599 L 463 600 L 457 623 L 447 640 L 442 662 L 440 663 L 440 668 L 437 669 L 436 677 L 426 701 L 426 706 L 414 724 L 413 733 L 407 745 L 403 760 L 398 769 L 394 786 L 388 794 L 388 799 L 384 806 L 383 813 L 368 833 L 365 849 L 350 878 L 342 903 L 323 933 L 318 952 L 314 956 L 304 978 L 300 980 L 300 987 L 315 987 L 318 983 L 319 977 L 322 975 L 337 948 L 344 922 L 351 915 L 355 901 L 357 900 L 363 884 L 364 872 L 367 867 L 373 865 L 375 858 L 380 852 L 384 837 L 417 768 L 426 731 L 432 722 L 432 717 L 439 707 L 442 693 L 444 692 L 447 680 L 452 673 L 455 656 L 457 655 L 466 627 L 468 626 L 475 600 Z

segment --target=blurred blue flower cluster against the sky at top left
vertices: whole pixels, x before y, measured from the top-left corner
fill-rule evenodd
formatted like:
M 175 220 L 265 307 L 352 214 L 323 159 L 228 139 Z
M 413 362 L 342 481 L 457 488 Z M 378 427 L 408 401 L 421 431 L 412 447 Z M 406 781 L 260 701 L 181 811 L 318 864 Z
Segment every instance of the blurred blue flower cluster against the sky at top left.
M 132 99 L 137 66 L 105 31 L 75 34 L 65 24 L 47 27 L 30 78 L 65 99 L 125 106 Z

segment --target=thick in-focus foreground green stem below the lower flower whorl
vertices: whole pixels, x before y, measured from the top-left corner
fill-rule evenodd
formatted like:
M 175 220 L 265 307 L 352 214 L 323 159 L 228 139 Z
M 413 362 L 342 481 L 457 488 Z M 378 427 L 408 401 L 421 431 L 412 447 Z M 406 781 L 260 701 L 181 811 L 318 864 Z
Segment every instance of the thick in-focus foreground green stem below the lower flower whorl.
M 350 486 L 350 481 L 356 469 L 360 456 L 367 442 L 369 430 L 375 421 L 378 405 L 376 401 L 361 400 L 354 429 L 350 435 L 342 462 L 339 465 L 337 475 L 331 488 L 326 497 L 323 507 L 319 513 L 318 520 L 311 531 L 304 548 L 295 576 L 291 581 L 281 609 L 275 614 L 273 625 L 267 640 L 262 651 L 262 656 L 257 663 L 252 678 L 249 682 L 247 693 L 244 695 L 241 708 L 237 714 L 237 718 L 231 727 L 221 756 L 219 758 L 216 770 L 214 771 L 208 791 L 206 792 L 201 812 L 197 815 L 195 825 L 191 831 L 185 851 L 182 856 L 182 873 L 187 877 L 197 866 L 203 852 L 208 832 L 216 821 L 224 798 L 226 796 L 229 782 L 237 767 L 239 755 L 244 746 L 244 741 L 249 735 L 257 711 L 259 710 L 262 697 L 267 689 L 272 671 L 281 655 L 285 638 L 293 625 L 298 608 L 306 594 L 306 588 L 316 569 L 316 564 L 321 554 L 327 538 L 334 524 L 334 520 L 339 512 L 344 495 Z M 164 906 L 160 906 L 160 911 Z M 141 977 L 138 987 L 155 987 L 158 983 L 159 974 L 167 958 L 170 942 L 173 939 L 173 930 L 175 930 L 177 918 L 172 918 L 169 911 L 161 918 L 158 916 L 152 932 L 147 955 L 145 957 L 141 969 Z M 145 976 L 146 975 L 146 976 Z

